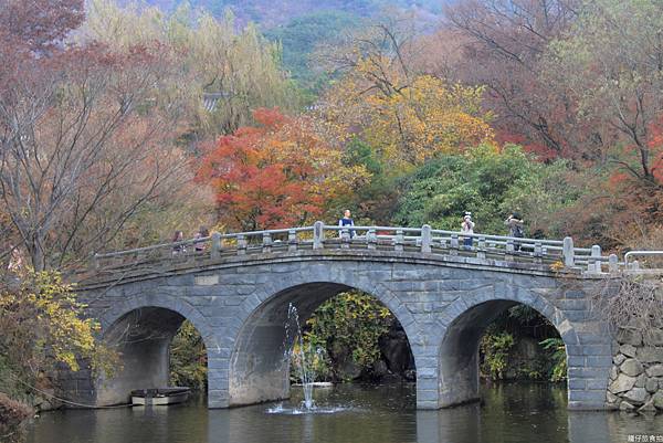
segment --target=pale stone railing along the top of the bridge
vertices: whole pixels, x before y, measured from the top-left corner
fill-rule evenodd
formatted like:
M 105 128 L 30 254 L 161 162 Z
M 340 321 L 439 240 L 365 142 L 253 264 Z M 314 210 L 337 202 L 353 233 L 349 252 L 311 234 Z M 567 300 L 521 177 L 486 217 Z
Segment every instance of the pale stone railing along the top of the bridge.
M 472 245 L 464 245 L 472 239 Z M 573 240 L 522 239 L 502 235 L 462 234 L 454 231 L 394 226 L 337 226 L 318 221 L 313 226 L 238 232 L 157 244 L 135 250 L 96 254 L 97 272 L 136 267 L 187 264 L 228 256 L 255 255 L 298 250 L 392 251 L 492 260 L 502 263 L 530 263 L 573 268 L 588 273 L 624 268 L 617 255 L 604 256 L 601 247 L 573 247 Z

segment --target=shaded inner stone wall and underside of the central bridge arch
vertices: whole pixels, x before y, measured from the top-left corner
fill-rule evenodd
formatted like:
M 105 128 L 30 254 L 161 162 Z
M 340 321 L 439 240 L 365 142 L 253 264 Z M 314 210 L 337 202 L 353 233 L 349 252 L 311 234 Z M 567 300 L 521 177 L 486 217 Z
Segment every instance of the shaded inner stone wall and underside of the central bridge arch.
M 398 315 L 403 309 L 396 298 L 386 293 L 366 291 L 365 287 L 330 282 L 311 282 L 287 286 L 263 297 L 250 297 L 246 319 L 234 335 L 234 347 L 229 365 L 229 405 L 238 407 L 290 397 L 288 361 L 285 349 L 285 324 L 288 306 L 293 304 L 301 321 L 305 321 L 325 300 L 348 291 L 362 291 L 385 305 L 401 323 Z M 264 299 L 261 299 L 264 298 Z M 256 303 L 261 300 L 261 303 Z M 397 312 L 394 312 L 394 308 Z M 402 312 L 402 310 L 401 310 Z M 404 310 L 409 315 L 409 312 Z M 407 319 L 404 320 L 407 321 Z M 409 339 L 408 339 L 409 340 Z M 409 341 L 408 341 L 409 342 Z M 410 344 L 410 342 L 409 342 Z M 414 365 L 417 360 L 414 357 Z

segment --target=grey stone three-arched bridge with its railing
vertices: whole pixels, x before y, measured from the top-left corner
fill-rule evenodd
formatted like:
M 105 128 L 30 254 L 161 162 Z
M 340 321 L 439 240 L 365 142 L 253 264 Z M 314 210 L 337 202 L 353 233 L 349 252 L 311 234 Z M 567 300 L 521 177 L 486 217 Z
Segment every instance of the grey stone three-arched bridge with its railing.
M 288 397 L 284 323 L 288 304 L 309 316 L 356 288 L 402 325 L 417 368 L 417 405 L 478 398 L 478 340 L 502 312 L 530 306 L 559 331 L 571 409 L 602 409 L 612 362 L 607 325 L 589 288 L 615 256 L 564 241 L 418 229 L 314 226 L 238 234 L 97 255 L 80 299 L 118 346 L 124 369 L 109 380 L 71 373 L 70 398 L 97 405 L 168 382 L 168 348 L 183 319 L 204 339 L 208 404 L 228 408 Z

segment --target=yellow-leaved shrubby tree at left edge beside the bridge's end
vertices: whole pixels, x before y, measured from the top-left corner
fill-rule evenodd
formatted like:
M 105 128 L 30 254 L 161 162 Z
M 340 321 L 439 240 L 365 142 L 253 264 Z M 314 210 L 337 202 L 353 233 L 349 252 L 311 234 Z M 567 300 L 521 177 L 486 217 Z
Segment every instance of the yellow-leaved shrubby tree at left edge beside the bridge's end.
M 57 366 L 78 371 L 83 361 L 95 373 L 112 373 L 117 355 L 95 340 L 101 326 L 84 318 L 73 286 L 54 272 L 22 277 L 20 287 L 0 287 L 0 389 L 22 399 L 27 386 L 52 387 Z

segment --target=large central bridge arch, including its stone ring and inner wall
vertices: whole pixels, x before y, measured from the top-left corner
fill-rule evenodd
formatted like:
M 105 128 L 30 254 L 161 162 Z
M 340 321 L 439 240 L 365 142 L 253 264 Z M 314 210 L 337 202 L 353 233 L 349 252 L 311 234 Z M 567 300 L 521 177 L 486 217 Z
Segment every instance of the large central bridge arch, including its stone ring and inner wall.
M 412 314 L 385 285 L 357 278 L 347 272 L 307 272 L 271 281 L 246 298 L 240 312 L 243 321 L 232 329 L 235 337 L 229 362 L 229 405 L 252 404 L 288 397 L 285 359 L 285 323 L 292 303 L 305 321 L 325 300 L 347 291 L 376 297 L 399 320 L 409 340 L 417 336 Z M 411 345 L 411 344 L 410 344 Z M 417 356 L 414 356 L 417 366 Z

